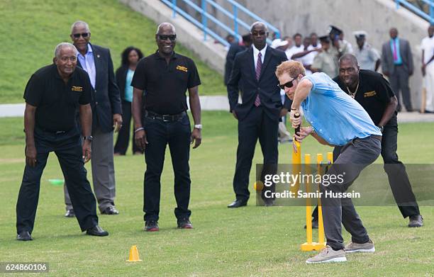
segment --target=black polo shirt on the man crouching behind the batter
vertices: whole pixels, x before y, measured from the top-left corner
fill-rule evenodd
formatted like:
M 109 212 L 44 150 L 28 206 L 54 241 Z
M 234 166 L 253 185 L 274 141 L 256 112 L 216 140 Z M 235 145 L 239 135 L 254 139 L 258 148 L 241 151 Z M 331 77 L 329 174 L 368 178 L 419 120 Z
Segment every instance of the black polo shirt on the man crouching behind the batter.
M 384 79 L 382 74 L 373 72 L 371 70 L 361 69 L 359 72 L 359 89 L 355 94 L 355 100 L 362 105 L 367 111 L 369 116 L 375 125 L 378 125 L 380 120 L 382 120 L 384 111 L 386 111 L 386 106 L 390 102 L 390 98 L 393 97 L 394 91 L 392 91 L 389 81 Z M 347 86 L 340 80 L 339 77 L 333 79 L 340 89 L 350 94 Z M 391 117 L 386 125 L 396 125 L 396 112 Z

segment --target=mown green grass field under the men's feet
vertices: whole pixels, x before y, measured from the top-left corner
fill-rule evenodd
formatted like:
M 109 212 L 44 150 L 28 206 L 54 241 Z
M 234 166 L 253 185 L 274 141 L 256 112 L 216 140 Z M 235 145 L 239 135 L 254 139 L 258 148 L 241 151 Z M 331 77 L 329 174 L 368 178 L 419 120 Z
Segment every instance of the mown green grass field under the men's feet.
M 15 205 L 24 166 L 23 123 L 21 118 L 0 119 L 0 261 L 49 262 L 50 275 L 55 276 L 433 276 L 433 207 L 421 207 L 425 226 L 418 229 L 406 227 L 408 221 L 396 207 L 358 207 L 377 251 L 348 254 L 347 263 L 306 265 L 313 253 L 299 250 L 305 241 L 304 208 L 256 207 L 254 197 L 245 208 L 226 208 L 234 198 L 236 123 L 226 112 L 205 112 L 202 121 L 203 143 L 191 151 L 194 230 L 176 229 L 167 155 L 160 232 L 143 232 L 145 164 L 143 157 L 128 152 L 115 159 L 116 206 L 121 213 L 99 217 L 110 236 L 80 233 L 75 219 L 63 217 L 62 187 L 47 181 L 62 178 L 51 155 L 41 181 L 34 240 L 17 242 Z M 404 163 L 434 160 L 432 128 L 433 123 L 400 125 L 399 156 Z M 329 149 L 310 138 L 303 144 L 304 153 Z M 279 145 L 279 162 L 288 163 L 290 151 L 290 145 Z M 260 157 L 257 147 L 254 163 L 260 163 Z M 350 237 L 344 233 L 347 242 Z M 142 262 L 126 262 L 131 245 L 138 246 Z

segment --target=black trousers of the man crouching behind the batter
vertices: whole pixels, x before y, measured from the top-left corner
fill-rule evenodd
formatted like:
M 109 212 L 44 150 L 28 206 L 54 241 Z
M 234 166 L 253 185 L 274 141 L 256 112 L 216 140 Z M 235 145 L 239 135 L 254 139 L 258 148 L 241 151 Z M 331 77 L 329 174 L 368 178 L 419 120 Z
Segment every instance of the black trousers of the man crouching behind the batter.
M 408 180 L 406 166 L 398 159 L 396 149 L 398 147 L 398 125 L 384 126 L 382 136 L 382 157 L 384 171 L 389 179 L 389 186 L 401 215 L 406 218 L 411 215 L 419 215 L 419 206 Z M 333 149 L 333 160 L 338 159 L 342 147 Z M 318 210 L 315 208 L 312 213 L 313 220 L 318 220 Z

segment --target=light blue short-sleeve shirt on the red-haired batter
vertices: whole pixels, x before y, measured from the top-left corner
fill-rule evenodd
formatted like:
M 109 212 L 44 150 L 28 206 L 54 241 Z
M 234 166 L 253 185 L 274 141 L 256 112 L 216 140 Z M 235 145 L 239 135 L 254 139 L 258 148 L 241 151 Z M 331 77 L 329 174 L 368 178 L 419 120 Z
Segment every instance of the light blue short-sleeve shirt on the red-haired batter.
M 312 89 L 301 103 L 304 118 L 330 145 L 346 145 L 352 139 L 382 135 L 365 109 L 340 89 L 327 74 L 318 72 L 304 77 Z

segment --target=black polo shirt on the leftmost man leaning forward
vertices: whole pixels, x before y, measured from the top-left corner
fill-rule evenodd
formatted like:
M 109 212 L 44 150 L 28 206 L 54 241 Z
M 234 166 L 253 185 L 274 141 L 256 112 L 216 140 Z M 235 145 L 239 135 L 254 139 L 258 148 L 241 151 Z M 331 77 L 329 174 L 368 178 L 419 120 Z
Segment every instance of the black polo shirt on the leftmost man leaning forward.
M 91 84 L 87 73 L 76 67 L 67 84 L 50 64 L 35 72 L 24 91 L 26 103 L 35 106 L 35 125 L 43 130 L 69 131 L 75 127 L 79 105 L 91 101 Z

